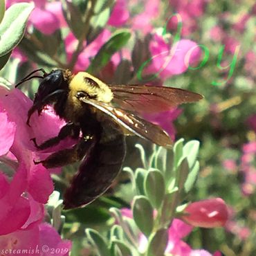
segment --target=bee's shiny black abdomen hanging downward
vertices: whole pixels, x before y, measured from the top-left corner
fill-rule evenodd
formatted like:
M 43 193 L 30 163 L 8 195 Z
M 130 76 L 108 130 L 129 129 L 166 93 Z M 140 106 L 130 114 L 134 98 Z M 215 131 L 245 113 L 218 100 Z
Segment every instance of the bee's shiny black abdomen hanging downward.
M 104 136 L 90 149 L 66 190 L 64 209 L 91 203 L 109 188 L 120 172 L 125 157 L 125 137 L 116 131 L 109 139 L 107 134 Z

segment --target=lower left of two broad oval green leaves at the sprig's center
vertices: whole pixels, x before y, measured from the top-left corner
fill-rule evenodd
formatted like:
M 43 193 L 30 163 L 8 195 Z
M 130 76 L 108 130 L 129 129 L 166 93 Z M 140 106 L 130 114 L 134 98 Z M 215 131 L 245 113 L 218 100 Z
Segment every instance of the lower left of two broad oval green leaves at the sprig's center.
M 132 211 L 136 225 L 148 237 L 153 230 L 154 217 L 152 205 L 147 197 L 135 196 Z

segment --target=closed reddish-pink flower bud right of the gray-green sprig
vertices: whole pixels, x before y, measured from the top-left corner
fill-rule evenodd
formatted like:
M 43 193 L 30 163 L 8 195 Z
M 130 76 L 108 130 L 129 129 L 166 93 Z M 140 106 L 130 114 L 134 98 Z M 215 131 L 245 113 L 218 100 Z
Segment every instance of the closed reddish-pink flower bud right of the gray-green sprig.
M 227 205 L 220 198 L 190 203 L 183 213 L 184 221 L 201 228 L 224 226 L 228 220 Z

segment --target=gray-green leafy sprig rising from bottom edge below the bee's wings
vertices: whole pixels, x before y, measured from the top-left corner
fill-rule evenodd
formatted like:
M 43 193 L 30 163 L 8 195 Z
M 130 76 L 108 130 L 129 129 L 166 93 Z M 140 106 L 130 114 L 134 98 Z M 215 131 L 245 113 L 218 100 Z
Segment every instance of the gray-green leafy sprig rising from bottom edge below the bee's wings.
M 108 241 L 95 230 L 86 230 L 99 255 L 163 255 L 167 246 L 168 227 L 185 205 L 183 200 L 192 189 L 199 172 L 199 142 L 178 140 L 173 149 L 154 147 L 146 157 L 141 145 L 136 145 L 144 167 L 135 171 L 125 167 L 131 177 L 134 199 L 131 205 L 133 219 L 111 208 L 116 224 Z M 147 237 L 147 246 L 140 248 L 139 233 Z M 92 235 L 93 234 L 93 235 Z M 93 236 L 95 239 L 93 239 Z

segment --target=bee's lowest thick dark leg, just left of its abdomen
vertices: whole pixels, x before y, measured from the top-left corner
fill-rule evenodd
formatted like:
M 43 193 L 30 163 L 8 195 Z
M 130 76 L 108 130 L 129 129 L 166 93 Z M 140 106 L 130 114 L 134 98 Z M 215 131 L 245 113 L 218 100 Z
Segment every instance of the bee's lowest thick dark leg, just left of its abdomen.
M 93 137 L 82 138 L 70 149 L 62 149 L 48 156 L 44 161 L 36 162 L 35 165 L 42 163 L 46 168 L 62 167 L 82 160 L 86 152 L 95 144 Z

